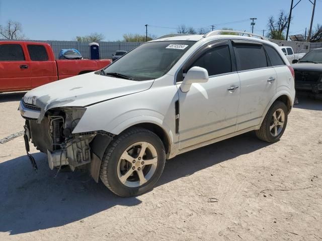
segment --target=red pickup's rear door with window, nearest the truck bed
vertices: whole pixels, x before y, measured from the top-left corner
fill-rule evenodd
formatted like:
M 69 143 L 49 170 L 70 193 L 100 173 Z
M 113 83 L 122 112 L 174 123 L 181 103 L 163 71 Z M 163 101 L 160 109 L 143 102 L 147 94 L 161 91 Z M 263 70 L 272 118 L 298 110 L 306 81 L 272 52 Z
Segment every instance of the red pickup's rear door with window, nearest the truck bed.
M 56 62 L 48 53 L 50 50 L 43 44 L 28 44 L 27 49 L 30 56 L 30 69 L 32 87 L 50 83 L 57 80 Z

